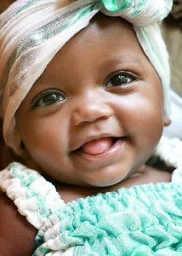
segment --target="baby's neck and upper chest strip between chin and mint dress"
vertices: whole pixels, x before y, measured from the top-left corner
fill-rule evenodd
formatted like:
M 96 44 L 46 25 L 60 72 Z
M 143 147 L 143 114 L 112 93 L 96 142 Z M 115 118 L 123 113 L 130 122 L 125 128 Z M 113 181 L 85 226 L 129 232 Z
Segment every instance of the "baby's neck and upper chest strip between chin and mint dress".
M 74 201 L 78 198 L 85 198 L 88 195 L 97 195 L 98 193 L 105 193 L 115 191 L 121 188 L 130 188 L 134 185 L 144 183 L 169 183 L 171 181 L 171 173 L 157 170 L 150 166 L 143 166 L 137 175 L 128 177 L 120 183 L 110 187 L 95 188 L 95 187 L 79 187 L 69 184 L 55 184 L 57 191 L 61 198 L 65 201 Z

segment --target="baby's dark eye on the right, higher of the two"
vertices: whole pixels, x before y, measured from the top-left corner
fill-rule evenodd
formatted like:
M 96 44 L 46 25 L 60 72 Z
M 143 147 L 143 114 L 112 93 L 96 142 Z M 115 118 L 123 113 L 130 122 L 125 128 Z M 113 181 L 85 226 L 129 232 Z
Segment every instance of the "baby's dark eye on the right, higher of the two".
M 131 73 L 115 73 L 110 76 L 110 78 L 107 80 L 106 86 L 107 87 L 115 87 L 115 86 L 122 86 L 128 83 L 133 82 L 136 80 L 134 75 Z

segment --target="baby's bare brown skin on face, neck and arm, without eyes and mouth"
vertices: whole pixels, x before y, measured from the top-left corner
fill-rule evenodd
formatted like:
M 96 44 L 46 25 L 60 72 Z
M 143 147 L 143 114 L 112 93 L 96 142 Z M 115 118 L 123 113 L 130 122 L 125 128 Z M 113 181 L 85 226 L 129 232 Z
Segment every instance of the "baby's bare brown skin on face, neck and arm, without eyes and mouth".
M 127 84 L 108 87 L 107 78 L 117 72 L 127 73 Z M 32 108 L 33 99 L 50 89 L 63 93 L 65 99 Z M 60 49 L 16 114 L 25 155 L 56 181 L 65 202 L 134 184 L 170 182 L 169 172 L 143 166 L 168 123 L 160 79 L 132 27 L 103 15 L 96 15 Z M 89 134 L 102 137 L 106 131 L 111 137 L 125 137 L 117 157 L 90 163 L 75 153 Z M 1 255 L 31 255 L 36 230 L 4 195 L 0 234 Z

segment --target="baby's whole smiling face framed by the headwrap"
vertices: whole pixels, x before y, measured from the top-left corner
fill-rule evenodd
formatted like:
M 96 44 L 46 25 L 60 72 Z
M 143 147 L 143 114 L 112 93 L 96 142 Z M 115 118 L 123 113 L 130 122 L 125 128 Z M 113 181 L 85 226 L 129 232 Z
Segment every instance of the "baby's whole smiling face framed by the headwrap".
M 16 128 L 43 174 L 110 186 L 150 157 L 162 134 L 162 104 L 162 85 L 132 27 L 97 15 L 34 84 Z

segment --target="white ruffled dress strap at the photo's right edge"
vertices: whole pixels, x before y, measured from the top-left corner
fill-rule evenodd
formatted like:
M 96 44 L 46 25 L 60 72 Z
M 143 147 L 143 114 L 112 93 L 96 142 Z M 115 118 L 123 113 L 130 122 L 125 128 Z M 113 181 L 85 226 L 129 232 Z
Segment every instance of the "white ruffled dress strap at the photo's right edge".
M 174 166 L 172 182 L 182 183 L 182 141 L 178 138 L 161 138 L 156 148 L 158 155 L 168 166 Z

